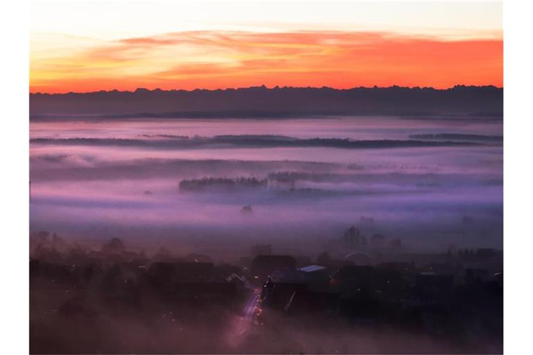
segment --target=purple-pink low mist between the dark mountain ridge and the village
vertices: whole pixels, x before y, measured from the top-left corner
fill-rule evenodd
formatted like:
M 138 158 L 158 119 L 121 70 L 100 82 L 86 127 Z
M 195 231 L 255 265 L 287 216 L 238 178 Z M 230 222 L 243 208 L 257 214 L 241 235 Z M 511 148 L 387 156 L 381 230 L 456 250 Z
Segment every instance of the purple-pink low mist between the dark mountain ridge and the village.
M 30 225 L 146 248 L 316 252 L 368 216 L 368 233 L 415 250 L 501 248 L 500 135 L 495 121 L 384 117 L 32 122 Z M 431 144 L 394 143 L 410 139 Z

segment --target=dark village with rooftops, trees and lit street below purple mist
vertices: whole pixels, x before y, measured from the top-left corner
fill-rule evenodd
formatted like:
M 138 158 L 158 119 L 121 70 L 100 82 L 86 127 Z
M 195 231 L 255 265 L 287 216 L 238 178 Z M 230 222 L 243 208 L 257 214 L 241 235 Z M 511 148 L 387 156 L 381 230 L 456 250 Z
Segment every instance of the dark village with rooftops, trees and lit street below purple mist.
M 349 236 L 348 230 L 344 238 Z M 464 349 L 474 347 L 476 338 L 502 334 L 499 250 L 368 250 L 337 259 L 327 252 L 314 258 L 276 254 L 264 244 L 253 245 L 251 254 L 235 263 L 214 263 L 207 255 L 178 257 L 164 248 L 147 257 L 128 251 L 120 239 L 104 243 L 101 250 L 64 252 L 58 251 L 62 242 L 57 236 L 37 234 L 33 241 L 35 320 L 46 313 L 84 324 L 108 313 L 149 312 L 174 322 L 208 313 L 220 327 L 235 315 L 246 323 L 246 332 L 255 333 L 280 327 L 280 319 L 287 324 L 342 320 L 452 340 Z M 42 334 L 31 334 L 34 346 L 42 349 Z

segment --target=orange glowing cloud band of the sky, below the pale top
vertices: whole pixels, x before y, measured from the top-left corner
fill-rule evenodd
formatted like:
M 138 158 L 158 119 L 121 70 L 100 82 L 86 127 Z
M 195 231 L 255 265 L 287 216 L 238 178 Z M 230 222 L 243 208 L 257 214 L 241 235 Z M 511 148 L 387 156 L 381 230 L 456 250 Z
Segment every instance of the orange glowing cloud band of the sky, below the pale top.
M 56 41 L 58 41 L 56 39 Z M 80 42 L 79 49 L 69 42 Z M 394 33 L 194 31 L 32 53 L 31 92 L 254 85 L 502 86 L 502 40 Z M 60 41 L 59 41 L 60 42 Z

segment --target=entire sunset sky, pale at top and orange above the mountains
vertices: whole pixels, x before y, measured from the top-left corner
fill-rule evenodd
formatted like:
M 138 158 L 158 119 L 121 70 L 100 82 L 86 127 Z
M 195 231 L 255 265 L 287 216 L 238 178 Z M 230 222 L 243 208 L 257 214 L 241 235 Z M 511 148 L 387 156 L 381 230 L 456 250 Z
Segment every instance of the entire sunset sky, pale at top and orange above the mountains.
M 502 4 L 35 1 L 30 91 L 502 87 Z

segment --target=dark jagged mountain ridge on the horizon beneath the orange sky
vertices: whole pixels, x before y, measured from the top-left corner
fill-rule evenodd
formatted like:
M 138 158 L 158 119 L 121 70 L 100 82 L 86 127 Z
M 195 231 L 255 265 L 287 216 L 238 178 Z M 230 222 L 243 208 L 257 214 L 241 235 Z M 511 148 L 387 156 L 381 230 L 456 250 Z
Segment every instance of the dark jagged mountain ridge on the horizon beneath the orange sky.
M 494 86 L 247 87 L 241 89 L 136 89 L 30 94 L 33 119 L 65 114 L 121 116 L 301 116 L 309 114 L 450 114 L 501 116 L 503 89 Z

